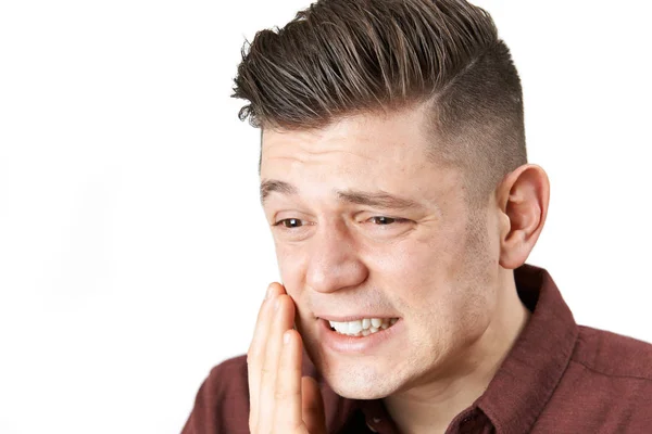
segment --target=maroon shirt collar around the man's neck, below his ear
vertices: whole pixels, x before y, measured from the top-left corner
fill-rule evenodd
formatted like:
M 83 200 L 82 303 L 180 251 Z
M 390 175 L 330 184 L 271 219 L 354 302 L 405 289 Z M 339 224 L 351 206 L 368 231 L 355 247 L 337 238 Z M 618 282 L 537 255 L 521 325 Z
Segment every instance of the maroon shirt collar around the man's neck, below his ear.
M 578 327 L 542 268 L 514 270 L 521 301 L 532 312 L 507 357 L 476 400 L 500 434 L 530 432 L 570 360 Z

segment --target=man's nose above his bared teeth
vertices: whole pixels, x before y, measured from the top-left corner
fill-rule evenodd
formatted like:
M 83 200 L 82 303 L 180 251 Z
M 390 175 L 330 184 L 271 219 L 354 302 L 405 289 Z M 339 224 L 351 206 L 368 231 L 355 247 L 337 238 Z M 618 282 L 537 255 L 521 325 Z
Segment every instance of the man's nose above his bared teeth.
M 324 225 L 310 240 L 306 284 L 329 293 L 360 285 L 368 269 L 358 254 L 355 240 L 346 225 Z

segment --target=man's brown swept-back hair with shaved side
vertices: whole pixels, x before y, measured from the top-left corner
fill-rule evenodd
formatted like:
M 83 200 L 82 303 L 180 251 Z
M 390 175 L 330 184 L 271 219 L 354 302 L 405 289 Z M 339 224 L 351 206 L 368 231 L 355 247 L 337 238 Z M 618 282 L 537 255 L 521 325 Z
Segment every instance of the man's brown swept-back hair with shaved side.
M 244 44 L 235 85 L 240 119 L 263 129 L 431 104 L 430 155 L 465 171 L 476 205 L 527 162 L 510 51 L 463 0 L 319 0 Z

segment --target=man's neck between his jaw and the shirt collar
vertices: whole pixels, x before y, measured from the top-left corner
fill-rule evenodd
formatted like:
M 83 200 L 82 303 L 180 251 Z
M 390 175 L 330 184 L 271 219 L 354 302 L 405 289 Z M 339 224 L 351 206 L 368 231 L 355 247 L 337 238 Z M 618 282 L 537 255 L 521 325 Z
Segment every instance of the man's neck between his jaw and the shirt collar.
M 493 320 L 484 334 L 457 357 L 473 362 L 463 363 L 465 369 L 455 369 L 435 382 L 384 399 L 401 433 L 444 433 L 455 416 L 485 393 L 530 315 L 518 298 L 513 273 L 510 276 Z

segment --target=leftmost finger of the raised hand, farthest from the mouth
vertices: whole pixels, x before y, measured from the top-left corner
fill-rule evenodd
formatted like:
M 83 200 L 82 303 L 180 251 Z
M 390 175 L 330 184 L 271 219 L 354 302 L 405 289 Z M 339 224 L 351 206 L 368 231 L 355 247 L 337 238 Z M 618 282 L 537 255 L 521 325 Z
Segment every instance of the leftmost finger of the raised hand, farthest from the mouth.
M 253 432 L 258 426 L 259 416 L 259 394 L 261 384 L 261 371 L 263 370 L 263 360 L 267 335 L 271 330 L 269 324 L 273 320 L 274 299 L 285 293 L 283 286 L 278 283 L 272 283 L 267 291 L 267 296 L 263 302 L 255 323 L 251 345 L 247 352 L 247 369 L 249 378 L 249 429 Z

